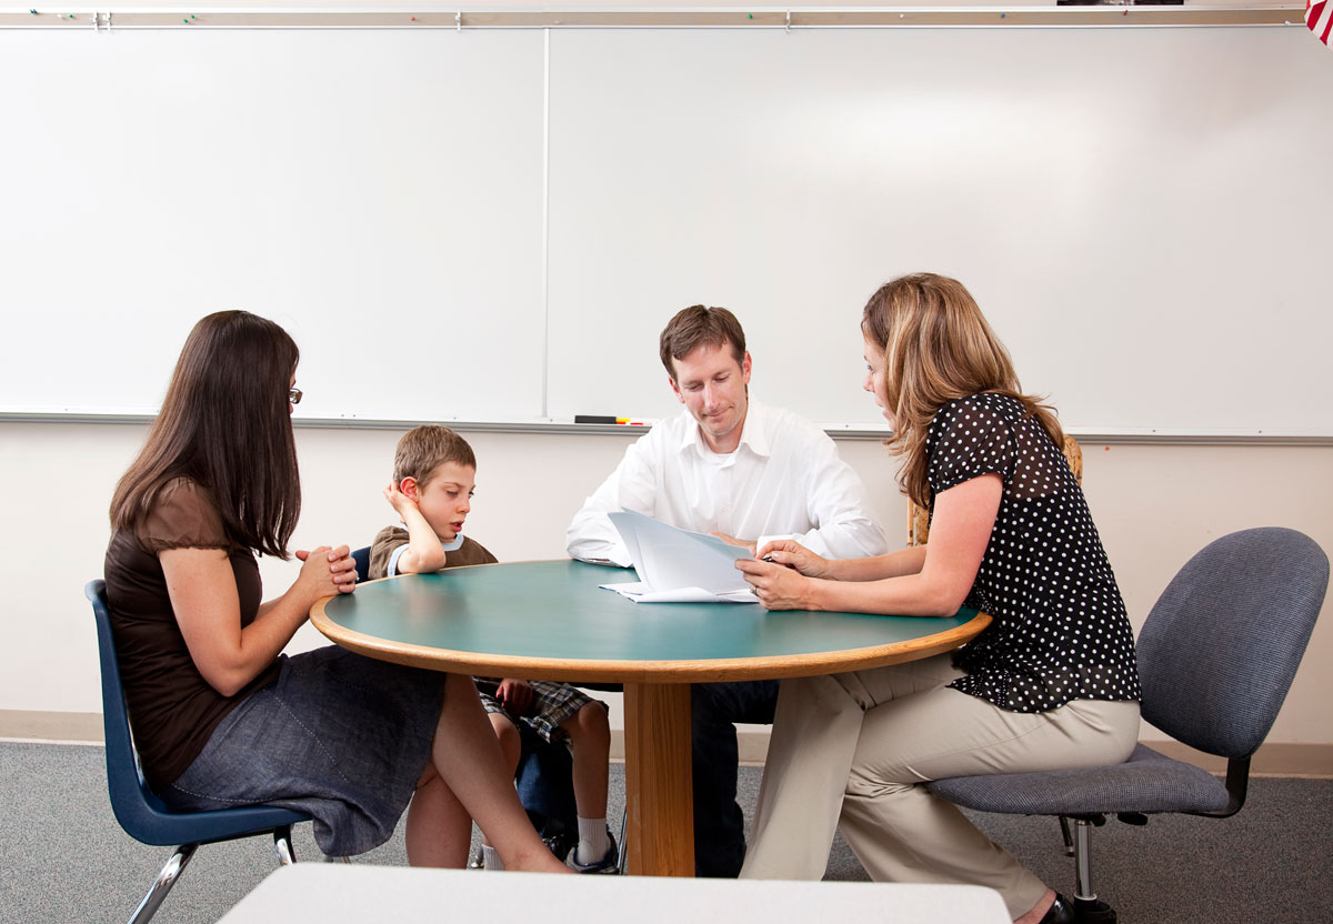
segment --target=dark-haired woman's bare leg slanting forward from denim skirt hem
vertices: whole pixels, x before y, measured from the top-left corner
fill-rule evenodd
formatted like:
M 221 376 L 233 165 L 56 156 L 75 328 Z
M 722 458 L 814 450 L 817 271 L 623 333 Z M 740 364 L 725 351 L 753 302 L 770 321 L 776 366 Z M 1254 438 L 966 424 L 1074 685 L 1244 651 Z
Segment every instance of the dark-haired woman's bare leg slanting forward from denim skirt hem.
M 444 784 L 500 852 L 505 869 L 569 872 L 541 843 L 523 811 L 477 688 L 464 673 L 447 675 L 431 755 Z

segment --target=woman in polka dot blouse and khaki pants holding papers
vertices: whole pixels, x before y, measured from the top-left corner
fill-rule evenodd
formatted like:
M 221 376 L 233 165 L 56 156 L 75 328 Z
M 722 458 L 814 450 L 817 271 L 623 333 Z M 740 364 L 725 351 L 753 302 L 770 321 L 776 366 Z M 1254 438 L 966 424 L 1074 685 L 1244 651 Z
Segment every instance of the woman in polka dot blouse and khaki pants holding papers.
M 893 424 L 928 545 L 826 560 L 794 541 L 738 563 L 769 609 L 994 621 L 954 655 L 784 680 L 741 876 L 820 879 L 841 828 L 870 879 L 973 883 L 1022 924 L 1068 901 L 924 781 L 1113 764 L 1138 735 L 1134 641 L 1050 408 L 1025 396 L 961 283 L 916 273 L 861 320 L 865 389 Z M 784 567 L 786 565 L 786 567 Z

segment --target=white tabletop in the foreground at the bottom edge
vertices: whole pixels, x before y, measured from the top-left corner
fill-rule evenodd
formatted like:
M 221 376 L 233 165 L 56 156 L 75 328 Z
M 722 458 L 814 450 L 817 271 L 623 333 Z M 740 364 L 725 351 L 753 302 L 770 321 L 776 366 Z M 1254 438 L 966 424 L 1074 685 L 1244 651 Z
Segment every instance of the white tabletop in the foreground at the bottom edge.
M 535 917 L 584 924 L 1009 924 L 1000 893 L 980 885 L 543 876 L 343 863 L 281 867 L 219 924 L 529 924 Z

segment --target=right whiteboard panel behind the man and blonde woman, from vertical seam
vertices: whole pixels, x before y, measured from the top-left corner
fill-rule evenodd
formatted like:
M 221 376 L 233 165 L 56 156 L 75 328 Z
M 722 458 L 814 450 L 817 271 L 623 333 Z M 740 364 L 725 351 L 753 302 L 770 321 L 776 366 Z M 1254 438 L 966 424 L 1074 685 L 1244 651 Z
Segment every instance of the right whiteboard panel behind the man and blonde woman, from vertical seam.
M 756 395 L 877 423 L 860 311 L 928 269 L 1066 427 L 1333 433 L 1333 59 L 1302 29 L 557 37 L 552 355 L 600 359 L 552 365 L 555 413 L 669 412 L 656 336 L 702 301 Z

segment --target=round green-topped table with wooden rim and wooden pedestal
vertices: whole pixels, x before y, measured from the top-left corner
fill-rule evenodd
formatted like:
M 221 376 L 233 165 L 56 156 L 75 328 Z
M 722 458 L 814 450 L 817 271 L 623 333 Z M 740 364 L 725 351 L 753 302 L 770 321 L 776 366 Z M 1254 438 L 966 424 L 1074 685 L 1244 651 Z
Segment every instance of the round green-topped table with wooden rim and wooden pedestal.
M 311 621 L 399 664 L 491 677 L 617 681 L 625 689 L 629 871 L 692 876 L 689 684 L 861 671 L 929 657 L 990 617 L 768 612 L 756 604 L 636 604 L 599 584 L 633 572 L 581 561 L 449 568 L 360 584 Z

